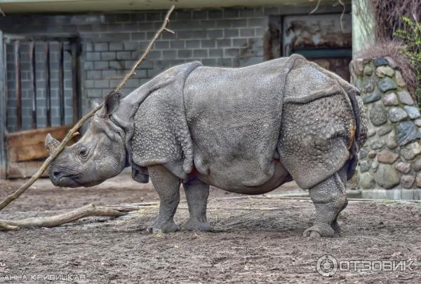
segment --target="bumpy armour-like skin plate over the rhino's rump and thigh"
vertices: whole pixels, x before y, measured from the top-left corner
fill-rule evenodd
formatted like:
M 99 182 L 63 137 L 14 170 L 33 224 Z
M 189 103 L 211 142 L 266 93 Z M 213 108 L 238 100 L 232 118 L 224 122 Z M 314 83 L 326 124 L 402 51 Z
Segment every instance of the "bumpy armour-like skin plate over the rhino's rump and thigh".
M 284 105 L 279 155 L 302 189 L 320 183 L 347 162 L 351 114 L 342 94 Z

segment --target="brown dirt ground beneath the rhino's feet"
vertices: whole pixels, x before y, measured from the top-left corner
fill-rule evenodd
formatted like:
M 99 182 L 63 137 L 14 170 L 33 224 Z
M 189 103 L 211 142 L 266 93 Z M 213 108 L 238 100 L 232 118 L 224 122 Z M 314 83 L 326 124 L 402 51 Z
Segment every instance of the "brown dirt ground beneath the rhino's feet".
M 0 198 L 21 183 L 0 180 Z M 158 201 L 152 185 L 128 175 L 76 189 L 39 180 L 0 218 L 145 201 Z M 182 194 L 178 224 L 187 220 L 186 206 Z M 308 200 L 244 197 L 213 188 L 208 233 L 147 234 L 156 213 L 151 206 L 121 218 L 0 232 L 0 283 L 55 282 L 48 277 L 63 283 L 421 283 L 420 203 L 350 201 L 340 218 L 341 235 L 327 239 L 302 237 L 314 218 Z M 316 272 L 323 255 L 338 261 L 413 260 L 413 271 L 337 271 L 323 277 Z

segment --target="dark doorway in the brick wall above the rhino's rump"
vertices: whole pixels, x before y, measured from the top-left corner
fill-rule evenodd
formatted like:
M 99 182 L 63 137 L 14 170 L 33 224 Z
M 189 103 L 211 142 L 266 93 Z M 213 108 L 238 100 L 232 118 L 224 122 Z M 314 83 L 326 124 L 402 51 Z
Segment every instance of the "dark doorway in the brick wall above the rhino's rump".
M 298 53 L 349 81 L 351 15 L 270 16 L 268 30 L 266 59 Z

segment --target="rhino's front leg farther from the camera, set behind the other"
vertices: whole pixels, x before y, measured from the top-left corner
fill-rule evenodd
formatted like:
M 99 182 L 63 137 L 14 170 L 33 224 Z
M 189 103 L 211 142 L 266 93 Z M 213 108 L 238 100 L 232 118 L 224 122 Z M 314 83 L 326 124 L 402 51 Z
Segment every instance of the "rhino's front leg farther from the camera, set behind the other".
M 210 231 L 210 225 L 206 219 L 206 205 L 208 204 L 209 185 L 199 180 L 189 180 L 183 183 L 187 204 L 189 205 L 189 220 L 182 225 L 188 231 Z

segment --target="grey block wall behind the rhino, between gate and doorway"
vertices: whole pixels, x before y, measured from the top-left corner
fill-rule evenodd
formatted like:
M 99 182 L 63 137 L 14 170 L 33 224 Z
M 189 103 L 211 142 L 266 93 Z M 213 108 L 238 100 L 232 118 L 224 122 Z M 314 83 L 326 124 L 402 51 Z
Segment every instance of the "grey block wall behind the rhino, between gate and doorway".
M 123 93 L 128 94 L 157 73 L 184 62 L 199 60 L 207 66 L 227 67 L 262 62 L 268 15 L 283 12 L 281 8 L 262 7 L 176 10 L 168 26 L 175 34 L 165 33 L 159 38 Z M 161 27 L 164 15 L 165 11 L 11 15 L 0 18 L 0 29 L 5 34 L 78 35 L 82 43 L 82 112 L 86 113 L 91 101 L 112 90 L 133 66 Z M 9 83 L 13 87 L 13 78 Z M 13 92 L 9 95 L 13 100 Z

